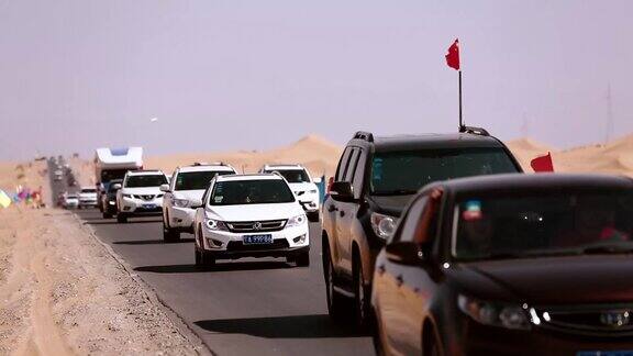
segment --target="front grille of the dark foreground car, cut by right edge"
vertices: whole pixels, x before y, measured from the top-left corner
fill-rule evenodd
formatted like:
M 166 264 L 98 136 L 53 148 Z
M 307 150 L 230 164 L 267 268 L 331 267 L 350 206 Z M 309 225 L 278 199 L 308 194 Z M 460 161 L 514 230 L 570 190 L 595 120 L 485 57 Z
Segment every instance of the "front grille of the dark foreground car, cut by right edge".
M 633 305 L 589 305 L 542 309 L 543 326 L 559 332 L 598 335 L 633 335 Z

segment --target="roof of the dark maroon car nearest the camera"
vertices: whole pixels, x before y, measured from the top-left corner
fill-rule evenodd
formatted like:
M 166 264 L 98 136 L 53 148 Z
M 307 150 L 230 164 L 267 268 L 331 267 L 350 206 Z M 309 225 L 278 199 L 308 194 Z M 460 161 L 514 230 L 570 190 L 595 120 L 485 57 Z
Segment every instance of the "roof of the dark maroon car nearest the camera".
M 628 190 L 633 189 L 633 179 L 625 176 L 598 174 L 503 174 L 477 176 L 437 181 L 421 191 L 443 187 L 455 194 L 462 193 L 514 193 L 520 190 Z

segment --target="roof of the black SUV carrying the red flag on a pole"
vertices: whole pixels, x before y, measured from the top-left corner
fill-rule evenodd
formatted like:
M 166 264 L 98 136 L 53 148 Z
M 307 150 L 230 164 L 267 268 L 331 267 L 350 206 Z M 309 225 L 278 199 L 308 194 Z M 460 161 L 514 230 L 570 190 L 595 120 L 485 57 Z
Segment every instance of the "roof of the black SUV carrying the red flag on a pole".
M 352 140 L 352 142 L 363 140 Z M 367 142 L 367 141 L 365 141 Z M 466 148 L 466 147 L 504 147 L 493 136 L 471 133 L 429 133 L 396 136 L 377 136 L 374 138 L 375 151 L 404 151 L 429 148 Z

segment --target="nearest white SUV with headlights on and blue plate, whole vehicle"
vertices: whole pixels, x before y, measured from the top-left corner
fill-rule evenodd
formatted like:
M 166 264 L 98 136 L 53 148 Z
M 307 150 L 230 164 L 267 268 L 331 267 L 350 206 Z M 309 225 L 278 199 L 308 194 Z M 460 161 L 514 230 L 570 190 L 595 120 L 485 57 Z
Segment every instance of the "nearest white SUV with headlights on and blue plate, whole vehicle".
M 197 266 L 212 266 L 221 258 L 265 256 L 310 265 L 306 213 L 277 175 L 213 178 L 193 224 Z

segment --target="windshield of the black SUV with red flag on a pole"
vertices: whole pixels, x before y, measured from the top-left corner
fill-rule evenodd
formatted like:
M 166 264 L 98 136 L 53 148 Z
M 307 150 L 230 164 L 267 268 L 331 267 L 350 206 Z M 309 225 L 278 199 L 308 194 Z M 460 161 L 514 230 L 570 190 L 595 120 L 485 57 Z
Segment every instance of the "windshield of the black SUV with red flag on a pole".
M 437 180 L 503 173 L 517 173 L 517 167 L 500 147 L 376 153 L 371 193 L 412 194 Z

